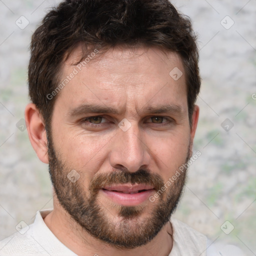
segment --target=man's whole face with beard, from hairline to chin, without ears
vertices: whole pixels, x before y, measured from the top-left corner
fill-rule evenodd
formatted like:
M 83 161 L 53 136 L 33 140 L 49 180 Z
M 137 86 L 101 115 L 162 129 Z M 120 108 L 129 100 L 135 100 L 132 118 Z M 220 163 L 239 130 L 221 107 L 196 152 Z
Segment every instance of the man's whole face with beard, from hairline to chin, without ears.
M 79 54 L 63 66 L 63 79 L 78 73 L 59 92 L 48 134 L 54 190 L 89 234 L 133 248 L 168 221 L 185 182 L 184 171 L 166 185 L 190 154 L 185 76 L 169 75 L 184 69 L 175 53 L 157 48 L 114 48 L 70 65 Z

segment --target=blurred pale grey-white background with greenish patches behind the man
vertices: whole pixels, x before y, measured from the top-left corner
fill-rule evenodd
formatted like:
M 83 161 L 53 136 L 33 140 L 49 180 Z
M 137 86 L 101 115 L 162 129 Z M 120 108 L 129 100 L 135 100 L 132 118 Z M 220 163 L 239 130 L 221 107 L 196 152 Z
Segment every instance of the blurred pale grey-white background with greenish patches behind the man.
M 30 37 L 57 0 L 0 0 L 0 239 L 52 207 L 48 166 L 24 123 Z M 256 1 L 172 0 L 198 35 L 201 92 L 194 152 L 174 217 L 214 244 L 256 255 Z

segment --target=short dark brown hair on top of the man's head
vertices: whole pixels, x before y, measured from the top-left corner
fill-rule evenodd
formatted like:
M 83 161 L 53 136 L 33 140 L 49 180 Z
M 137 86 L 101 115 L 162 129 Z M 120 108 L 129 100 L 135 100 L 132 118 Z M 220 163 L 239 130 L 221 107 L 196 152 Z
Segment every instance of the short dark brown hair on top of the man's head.
M 178 13 L 168 0 L 65 0 L 45 15 L 30 45 L 29 96 L 48 128 L 57 95 L 51 99 L 46 95 L 57 87 L 61 64 L 77 43 L 84 49 L 142 44 L 177 52 L 185 68 L 191 120 L 200 76 L 198 49 L 188 17 Z

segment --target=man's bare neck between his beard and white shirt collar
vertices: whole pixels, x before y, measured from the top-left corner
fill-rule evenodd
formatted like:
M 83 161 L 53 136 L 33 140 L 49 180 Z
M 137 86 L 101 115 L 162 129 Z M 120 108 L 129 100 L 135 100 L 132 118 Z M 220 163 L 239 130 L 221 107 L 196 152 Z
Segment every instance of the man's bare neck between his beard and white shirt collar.
M 54 209 L 44 218 L 44 222 L 60 242 L 79 256 L 168 256 L 171 251 L 172 227 L 169 221 L 147 244 L 133 249 L 118 249 L 92 237 L 56 203 L 56 200 L 54 201 Z

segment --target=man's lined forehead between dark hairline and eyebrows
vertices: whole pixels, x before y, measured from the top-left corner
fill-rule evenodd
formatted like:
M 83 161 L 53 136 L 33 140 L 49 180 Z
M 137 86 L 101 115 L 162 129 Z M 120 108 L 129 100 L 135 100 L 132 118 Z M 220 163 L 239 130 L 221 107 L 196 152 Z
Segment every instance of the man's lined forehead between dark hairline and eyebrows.
M 97 49 L 91 49 L 80 63 L 73 65 L 81 54 L 78 46 L 61 70 L 62 81 L 75 73 L 57 98 L 57 101 L 64 100 L 65 105 L 76 107 L 97 101 L 123 108 L 125 104 L 135 107 L 175 101 L 186 106 L 184 68 L 175 52 L 156 47 L 115 47 L 100 54 Z

